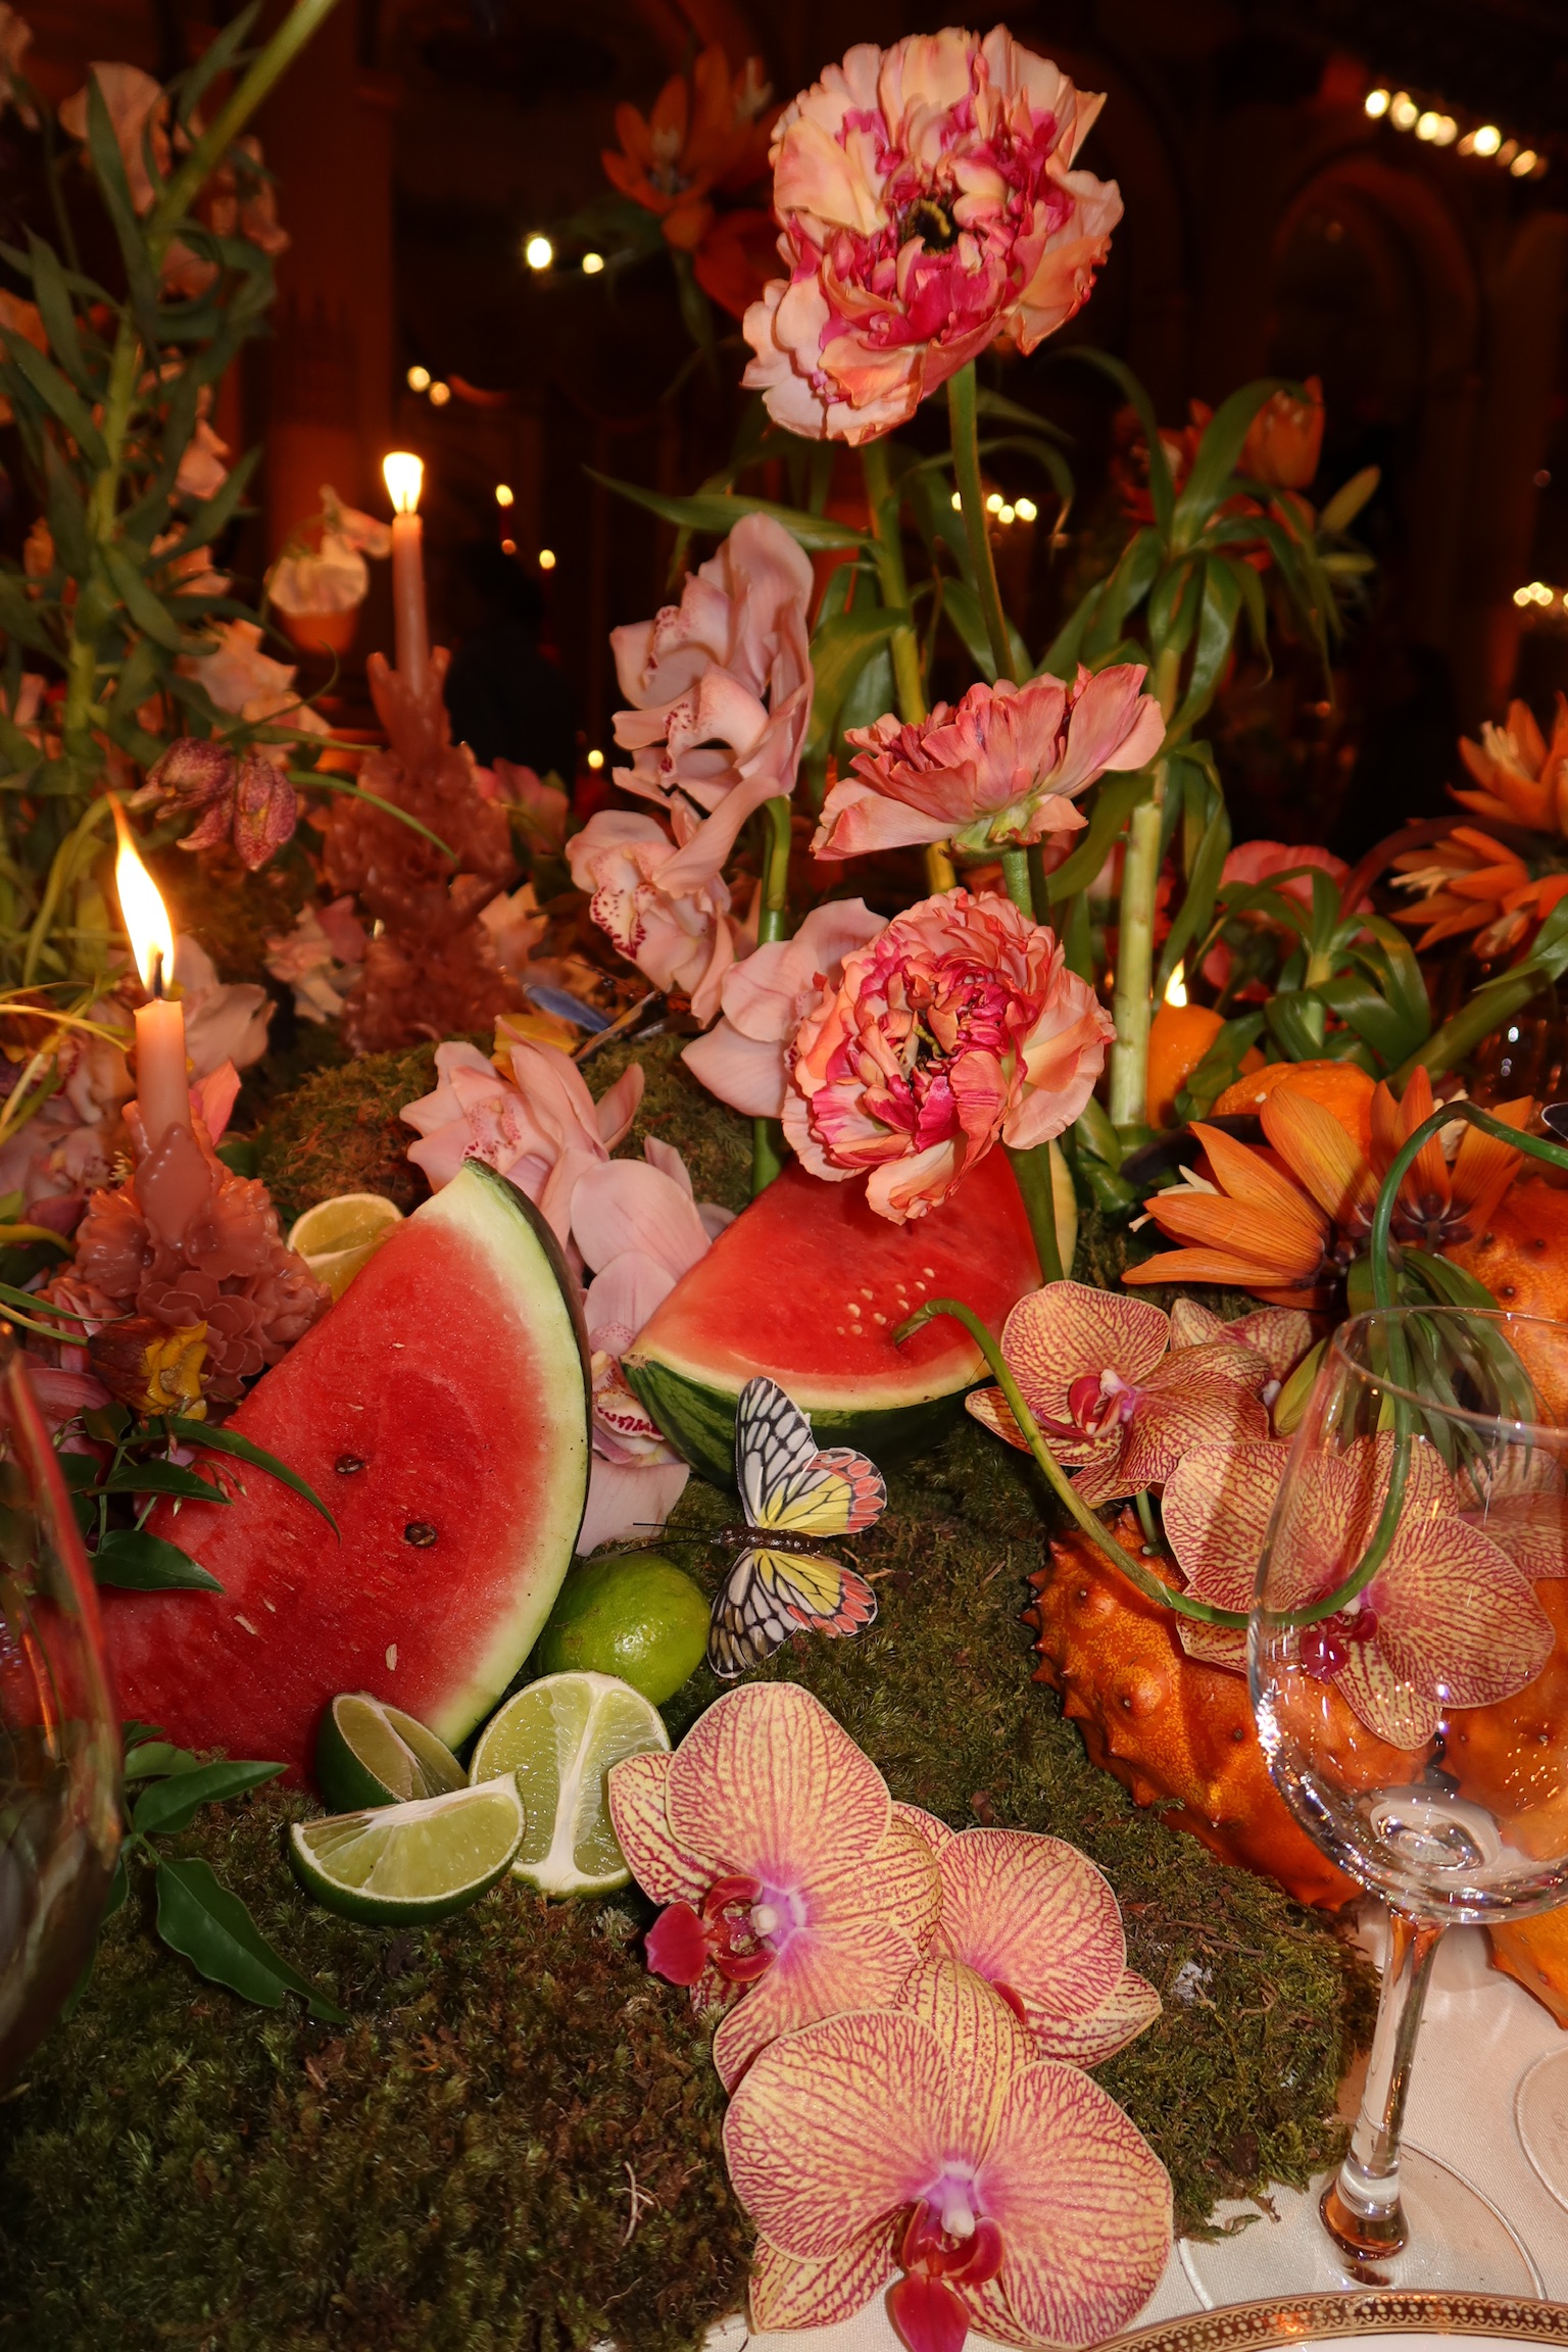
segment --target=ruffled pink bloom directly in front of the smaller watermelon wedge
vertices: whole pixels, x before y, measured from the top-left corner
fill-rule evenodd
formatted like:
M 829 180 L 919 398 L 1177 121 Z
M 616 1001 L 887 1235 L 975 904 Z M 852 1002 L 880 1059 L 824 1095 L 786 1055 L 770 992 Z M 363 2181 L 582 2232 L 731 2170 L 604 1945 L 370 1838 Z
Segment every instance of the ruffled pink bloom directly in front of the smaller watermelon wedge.
M 1072 1127 L 1112 1035 L 1056 934 L 1009 898 L 922 898 L 818 990 L 788 1056 L 785 1136 L 813 1176 L 865 1176 L 900 1225 L 992 1145 Z

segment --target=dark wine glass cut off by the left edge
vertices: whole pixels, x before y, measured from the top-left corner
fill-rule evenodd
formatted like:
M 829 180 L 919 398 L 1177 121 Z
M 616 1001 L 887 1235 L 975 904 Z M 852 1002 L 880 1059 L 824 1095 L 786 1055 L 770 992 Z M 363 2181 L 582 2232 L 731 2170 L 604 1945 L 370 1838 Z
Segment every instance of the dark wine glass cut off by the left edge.
M 0 1324 L 0 2086 L 92 1952 L 118 1788 L 92 1571 L 21 1348 Z

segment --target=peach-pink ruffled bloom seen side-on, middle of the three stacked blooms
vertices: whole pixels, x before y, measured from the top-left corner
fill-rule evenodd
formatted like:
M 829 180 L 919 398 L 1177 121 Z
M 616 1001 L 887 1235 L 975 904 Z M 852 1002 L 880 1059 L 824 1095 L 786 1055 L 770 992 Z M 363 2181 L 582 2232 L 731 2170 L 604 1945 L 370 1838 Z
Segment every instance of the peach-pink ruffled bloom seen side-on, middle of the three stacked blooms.
M 971 687 L 952 710 L 938 703 L 914 727 L 896 717 L 851 727 L 853 776 L 832 786 L 811 851 L 856 858 L 952 840 L 971 856 L 1020 849 L 1084 823 L 1074 795 L 1107 769 L 1138 769 L 1159 750 L 1166 722 L 1147 670 L 1119 661 L 1072 687 L 1060 677 L 1006 677 Z

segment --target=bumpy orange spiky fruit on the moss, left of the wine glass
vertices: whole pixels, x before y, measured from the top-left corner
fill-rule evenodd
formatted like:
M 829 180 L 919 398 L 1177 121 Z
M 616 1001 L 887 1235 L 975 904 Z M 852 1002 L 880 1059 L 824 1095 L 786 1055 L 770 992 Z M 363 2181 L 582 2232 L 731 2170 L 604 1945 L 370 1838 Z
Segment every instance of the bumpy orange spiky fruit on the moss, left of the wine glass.
M 1143 1541 L 1131 1512 L 1117 1534 L 1131 1550 Z M 1173 1830 L 1190 1830 L 1222 1863 L 1276 1879 L 1298 1903 L 1342 1910 L 1356 1900 L 1361 1889 L 1319 1853 L 1269 1780 L 1241 1675 L 1190 1658 L 1171 1611 L 1133 1590 L 1086 1536 L 1056 1541 L 1030 1583 L 1027 1623 L 1041 1656 L 1034 1679 L 1060 1691 L 1103 1771 L 1138 1804 L 1161 1806 Z

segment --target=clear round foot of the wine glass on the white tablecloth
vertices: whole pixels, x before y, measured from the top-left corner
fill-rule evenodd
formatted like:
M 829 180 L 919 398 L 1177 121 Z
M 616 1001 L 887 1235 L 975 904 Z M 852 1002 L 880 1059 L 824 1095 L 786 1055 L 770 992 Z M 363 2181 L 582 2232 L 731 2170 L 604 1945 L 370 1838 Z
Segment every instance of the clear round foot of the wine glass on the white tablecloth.
M 1234 2237 L 1180 2244 L 1182 2270 L 1208 2310 L 1260 2296 L 1331 2296 L 1359 2286 L 1469 2288 L 1490 2296 L 1544 2293 L 1535 2263 L 1502 2213 L 1467 2180 L 1420 2147 L 1403 2150 L 1399 2194 L 1408 2239 L 1394 2256 L 1359 2263 L 1340 2253 L 1324 2227 L 1319 2197 L 1328 2173 L 1307 2190 L 1269 2190 L 1279 2220 L 1253 2220 Z M 1255 2213 L 1222 2204 L 1215 2223 Z

